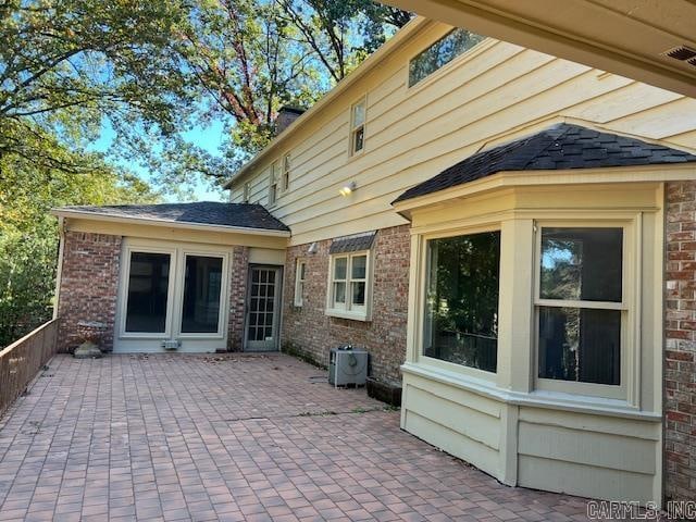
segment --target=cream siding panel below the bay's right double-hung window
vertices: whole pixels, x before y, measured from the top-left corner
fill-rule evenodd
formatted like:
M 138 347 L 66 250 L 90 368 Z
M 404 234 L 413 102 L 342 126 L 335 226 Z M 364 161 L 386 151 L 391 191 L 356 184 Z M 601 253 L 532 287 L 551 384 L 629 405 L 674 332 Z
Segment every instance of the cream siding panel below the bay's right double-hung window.
M 654 500 L 660 496 L 660 428 L 659 422 L 520 408 L 518 484 Z

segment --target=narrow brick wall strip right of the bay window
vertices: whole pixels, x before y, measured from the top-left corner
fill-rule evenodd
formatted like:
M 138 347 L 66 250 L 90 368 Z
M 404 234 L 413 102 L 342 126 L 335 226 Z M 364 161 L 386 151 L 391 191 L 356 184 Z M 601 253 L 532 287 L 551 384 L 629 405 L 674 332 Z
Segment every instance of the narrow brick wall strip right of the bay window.
M 696 500 L 696 182 L 667 185 L 664 495 Z

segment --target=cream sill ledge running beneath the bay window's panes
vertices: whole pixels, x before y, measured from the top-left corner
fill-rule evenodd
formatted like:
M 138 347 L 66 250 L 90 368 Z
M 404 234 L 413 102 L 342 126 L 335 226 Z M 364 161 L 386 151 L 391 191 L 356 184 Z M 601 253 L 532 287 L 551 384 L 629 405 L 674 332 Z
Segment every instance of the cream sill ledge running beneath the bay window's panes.
M 625 400 L 561 394 L 558 391 L 535 390 L 529 394 L 502 389 L 482 378 L 471 377 L 422 363 L 407 362 L 401 365 L 405 374 L 435 381 L 453 386 L 493 400 L 527 408 L 546 408 L 552 410 L 575 411 L 605 417 L 619 417 L 643 421 L 660 422 L 659 412 L 644 411 L 633 408 Z

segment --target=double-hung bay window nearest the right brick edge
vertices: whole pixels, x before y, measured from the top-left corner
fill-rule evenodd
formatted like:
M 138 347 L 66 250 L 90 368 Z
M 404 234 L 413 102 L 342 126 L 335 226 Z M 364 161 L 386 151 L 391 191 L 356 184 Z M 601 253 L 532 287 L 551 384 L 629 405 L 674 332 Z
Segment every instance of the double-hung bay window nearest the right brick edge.
M 542 226 L 537 234 L 539 383 L 550 389 L 619 397 L 629 312 L 625 228 Z M 559 381 L 584 384 L 555 387 Z M 591 385 L 604 386 L 593 391 Z

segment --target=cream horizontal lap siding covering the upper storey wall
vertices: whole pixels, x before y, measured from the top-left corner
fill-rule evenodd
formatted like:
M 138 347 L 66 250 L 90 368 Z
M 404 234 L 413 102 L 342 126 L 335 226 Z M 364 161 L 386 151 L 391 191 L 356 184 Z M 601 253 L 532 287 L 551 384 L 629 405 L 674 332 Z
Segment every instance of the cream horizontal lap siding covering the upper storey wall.
M 405 223 L 390 202 L 482 147 L 557 121 L 696 148 L 696 100 L 493 39 L 407 87 L 408 61 L 449 26 L 423 22 L 400 48 L 272 148 L 253 179 L 264 202 L 266 167 L 290 152 L 291 190 L 274 215 L 294 245 Z M 349 156 L 350 107 L 366 96 L 364 150 Z M 276 150 L 277 149 L 277 150 Z M 357 190 L 338 194 L 355 181 Z

